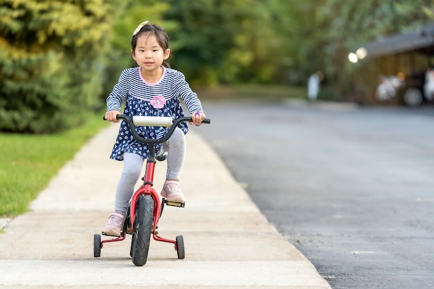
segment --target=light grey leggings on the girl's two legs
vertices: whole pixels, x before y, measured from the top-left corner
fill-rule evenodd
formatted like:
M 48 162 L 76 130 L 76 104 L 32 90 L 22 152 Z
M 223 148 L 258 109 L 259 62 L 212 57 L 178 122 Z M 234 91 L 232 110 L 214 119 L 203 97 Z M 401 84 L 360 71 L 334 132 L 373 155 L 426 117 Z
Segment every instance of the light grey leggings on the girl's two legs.
M 186 141 L 184 132 L 176 128 L 168 141 L 163 143 L 163 149 L 167 152 L 167 172 L 166 179 L 179 179 L 182 165 L 185 159 Z M 125 213 L 134 186 L 141 174 L 144 159 L 132 152 L 123 154 L 123 172 L 116 187 L 116 198 L 114 200 L 114 211 Z

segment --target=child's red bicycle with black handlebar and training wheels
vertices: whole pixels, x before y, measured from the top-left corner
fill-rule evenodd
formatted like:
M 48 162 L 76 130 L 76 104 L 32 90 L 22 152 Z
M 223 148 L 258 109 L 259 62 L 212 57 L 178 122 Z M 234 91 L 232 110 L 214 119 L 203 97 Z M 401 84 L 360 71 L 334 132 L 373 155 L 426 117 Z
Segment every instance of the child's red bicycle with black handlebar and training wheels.
M 101 240 L 101 234 L 94 234 L 94 257 L 101 256 L 103 244 L 125 240 L 126 235 L 132 235 L 130 256 L 132 263 L 143 266 L 148 259 L 150 236 L 154 240 L 173 243 L 178 259 L 184 259 L 184 238 L 182 235 L 176 236 L 175 240 L 158 236 L 157 225 L 162 216 L 164 204 L 173 207 L 184 207 L 184 202 L 168 202 L 166 198 L 160 200 L 159 195 L 153 189 L 154 169 L 157 160 L 164 160 L 165 157 L 156 156 L 154 144 L 164 143 L 175 131 L 177 125 L 183 121 L 192 121 L 191 117 L 185 116 L 173 120 L 170 116 L 126 116 L 118 114 L 117 119 L 122 119 L 128 123 L 134 139 L 142 143 L 148 143 L 150 155 L 146 159 L 146 170 L 142 180 L 144 183 L 135 191 L 128 205 L 127 215 L 121 231 L 121 236 L 107 240 Z M 204 119 L 202 123 L 210 123 L 209 119 Z M 134 126 L 161 126 L 168 128 L 166 135 L 160 139 L 146 139 L 141 137 Z

